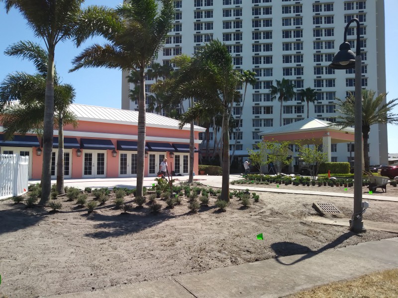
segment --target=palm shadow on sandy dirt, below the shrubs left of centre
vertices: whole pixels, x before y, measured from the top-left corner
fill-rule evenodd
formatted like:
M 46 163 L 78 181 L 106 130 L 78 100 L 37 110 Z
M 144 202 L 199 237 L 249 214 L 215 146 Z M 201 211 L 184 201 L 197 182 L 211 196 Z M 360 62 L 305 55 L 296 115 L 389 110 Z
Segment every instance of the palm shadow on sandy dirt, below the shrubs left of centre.
M 100 213 L 83 214 L 91 221 L 100 223 L 93 226 L 94 229 L 100 229 L 86 233 L 85 236 L 104 239 L 108 237 L 119 237 L 126 234 L 136 233 L 154 225 L 161 224 L 164 221 L 175 218 L 169 212 L 151 214 L 149 209 L 134 210 L 132 213 L 121 213 L 118 215 L 103 215 Z

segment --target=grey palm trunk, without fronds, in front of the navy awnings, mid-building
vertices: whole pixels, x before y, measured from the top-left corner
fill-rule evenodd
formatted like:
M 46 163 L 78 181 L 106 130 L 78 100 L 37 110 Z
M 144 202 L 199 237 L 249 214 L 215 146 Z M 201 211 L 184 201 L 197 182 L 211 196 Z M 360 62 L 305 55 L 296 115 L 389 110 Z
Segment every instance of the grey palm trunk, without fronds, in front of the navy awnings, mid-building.
M 137 144 L 137 197 L 142 197 L 142 187 L 144 185 L 144 165 L 145 165 L 145 63 L 140 66 L 140 97 L 138 101 L 138 144 Z

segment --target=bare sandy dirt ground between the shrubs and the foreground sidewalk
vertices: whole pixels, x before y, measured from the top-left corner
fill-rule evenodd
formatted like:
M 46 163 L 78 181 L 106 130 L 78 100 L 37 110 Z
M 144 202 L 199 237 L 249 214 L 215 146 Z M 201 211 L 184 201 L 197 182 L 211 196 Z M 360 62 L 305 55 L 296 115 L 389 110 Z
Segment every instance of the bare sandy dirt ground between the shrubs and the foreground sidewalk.
M 344 192 L 336 187 L 286 187 Z M 333 203 L 348 219 L 352 198 L 257 194 L 260 201 L 252 200 L 249 208 L 242 209 L 234 197 L 222 213 L 210 197 L 208 207 L 197 214 L 189 212 L 185 197 L 174 209 L 158 199 L 163 204 L 159 215 L 152 215 L 147 205 L 121 214 L 112 200 L 90 215 L 66 197 L 57 199 L 63 204 L 59 213 L 0 201 L 0 294 L 33 298 L 96 291 L 397 236 L 375 230 L 355 234 L 346 227 L 303 220 L 316 215 L 313 202 Z M 385 195 L 398 196 L 398 190 L 389 186 Z M 126 202 L 132 199 L 125 197 Z M 372 200 L 364 220 L 398 224 L 397 207 L 396 202 Z M 256 238 L 259 233 L 264 240 Z

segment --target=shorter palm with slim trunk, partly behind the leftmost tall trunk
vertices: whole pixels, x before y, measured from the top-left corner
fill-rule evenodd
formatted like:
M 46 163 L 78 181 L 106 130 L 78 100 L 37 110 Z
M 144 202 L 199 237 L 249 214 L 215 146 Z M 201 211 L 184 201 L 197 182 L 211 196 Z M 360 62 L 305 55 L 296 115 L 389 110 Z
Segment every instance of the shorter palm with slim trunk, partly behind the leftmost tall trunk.
M 5 138 L 12 138 L 14 133 L 25 135 L 32 128 L 38 135 L 43 135 L 44 98 L 47 76 L 47 53 L 40 45 L 33 42 L 19 41 L 4 51 L 5 55 L 28 59 L 36 67 L 37 74 L 15 73 L 7 75 L 0 85 L 2 119 Z M 68 110 L 75 98 L 75 89 L 69 84 L 59 84 L 59 76 L 54 68 L 54 112 L 58 127 L 57 192 L 64 190 L 64 143 L 63 126 L 77 126 L 76 116 Z M 19 100 L 17 104 L 10 104 Z

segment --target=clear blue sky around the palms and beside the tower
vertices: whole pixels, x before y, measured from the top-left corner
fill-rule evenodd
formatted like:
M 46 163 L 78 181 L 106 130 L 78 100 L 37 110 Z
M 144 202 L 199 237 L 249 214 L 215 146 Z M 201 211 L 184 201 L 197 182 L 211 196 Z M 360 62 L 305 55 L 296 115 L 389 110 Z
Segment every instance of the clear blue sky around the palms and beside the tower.
M 86 0 L 87 5 L 107 5 L 115 7 L 121 0 Z M 5 13 L 3 2 L 0 2 L 0 80 L 7 74 L 15 71 L 33 73 L 35 70 L 28 61 L 20 61 L 16 58 L 7 57 L 3 54 L 5 48 L 19 40 L 31 40 L 41 42 L 35 38 L 26 21 L 15 10 L 11 9 Z M 395 53 L 398 48 L 398 40 L 394 28 L 394 18 L 398 11 L 397 0 L 385 0 L 386 10 L 386 75 L 388 99 L 398 98 L 398 84 L 396 82 L 398 56 Z M 341 32 L 343 35 L 343 32 Z M 341 39 L 343 36 L 341 36 Z M 337 38 L 338 39 L 338 38 Z M 72 59 L 78 55 L 87 45 L 95 42 L 101 43 L 100 38 L 89 40 L 79 49 L 75 48 L 71 41 L 57 45 L 55 63 L 58 74 L 61 75 L 64 83 L 72 84 L 76 89 L 76 103 L 98 105 L 105 107 L 121 107 L 121 72 L 104 68 L 81 69 L 69 74 L 72 67 Z M 398 113 L 398 107 L 394 110 Z M 398 125 L 388 126 L 389 152 L 398 153 Z

